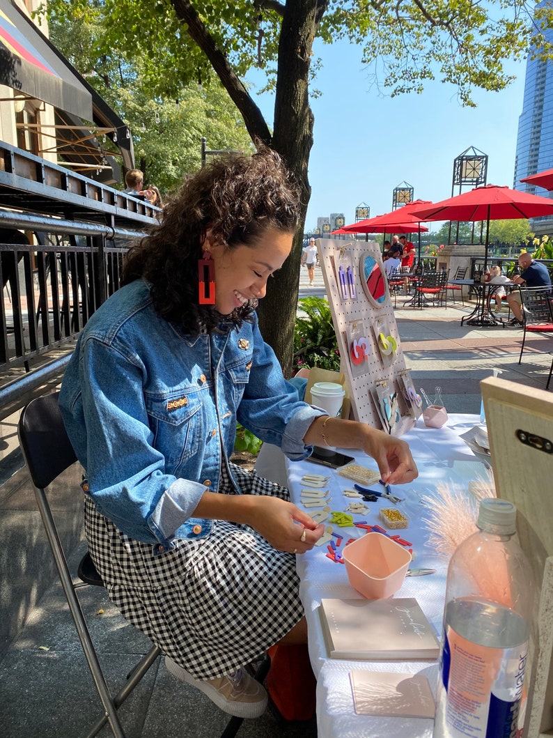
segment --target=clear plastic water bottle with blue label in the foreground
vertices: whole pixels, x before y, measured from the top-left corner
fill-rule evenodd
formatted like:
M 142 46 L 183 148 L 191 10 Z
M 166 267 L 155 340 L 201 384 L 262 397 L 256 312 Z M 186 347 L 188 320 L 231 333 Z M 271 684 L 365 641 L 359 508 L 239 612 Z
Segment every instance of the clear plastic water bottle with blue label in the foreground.
M 534 585 L 515 519 L 507 500 L 481 500 L 479 531 L 451 558 L 434 738 L 520 735 Z

